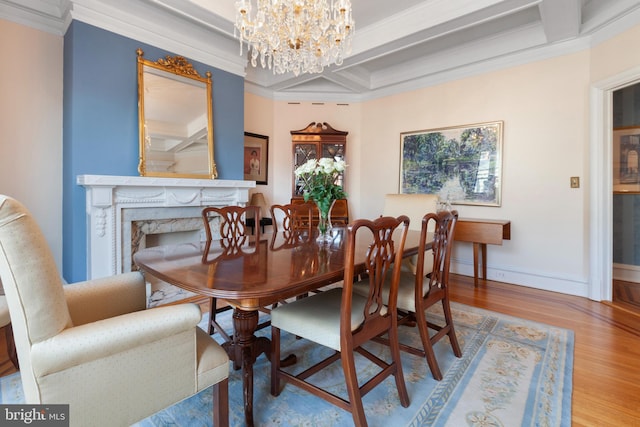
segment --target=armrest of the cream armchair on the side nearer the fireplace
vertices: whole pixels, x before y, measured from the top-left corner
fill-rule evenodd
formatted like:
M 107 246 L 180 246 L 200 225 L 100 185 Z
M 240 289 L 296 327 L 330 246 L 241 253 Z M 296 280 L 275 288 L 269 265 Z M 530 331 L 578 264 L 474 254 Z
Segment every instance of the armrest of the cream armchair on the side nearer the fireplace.
M 135 271 L 64 286 L 69 314 L 75 326 L 144 310 L 144 276 Z

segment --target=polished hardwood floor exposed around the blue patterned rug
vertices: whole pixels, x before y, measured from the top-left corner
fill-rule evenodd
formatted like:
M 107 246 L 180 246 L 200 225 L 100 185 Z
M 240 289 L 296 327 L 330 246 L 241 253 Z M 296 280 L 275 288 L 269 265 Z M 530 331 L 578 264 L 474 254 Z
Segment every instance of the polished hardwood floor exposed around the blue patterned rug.
M 451 299 L 572 329 L 573 426 L 640 426 L 640 314 L 617 303 L 452 275 Z M 208 311 L 207 300 L 201 303 Z M 15 372 L 0 334 L 0 375 Z

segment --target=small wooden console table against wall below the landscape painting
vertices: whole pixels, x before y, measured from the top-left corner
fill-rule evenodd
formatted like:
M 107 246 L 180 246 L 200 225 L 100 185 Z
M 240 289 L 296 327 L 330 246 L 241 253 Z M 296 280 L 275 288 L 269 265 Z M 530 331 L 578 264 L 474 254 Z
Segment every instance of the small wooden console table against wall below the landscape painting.
M 478 252 L 482 252 L 482 278 L 487 279 L 487 244 L 511 240 L 511 221 L 460 218 L 454 240 L 473 243 L 473 284 L 478 286 Z

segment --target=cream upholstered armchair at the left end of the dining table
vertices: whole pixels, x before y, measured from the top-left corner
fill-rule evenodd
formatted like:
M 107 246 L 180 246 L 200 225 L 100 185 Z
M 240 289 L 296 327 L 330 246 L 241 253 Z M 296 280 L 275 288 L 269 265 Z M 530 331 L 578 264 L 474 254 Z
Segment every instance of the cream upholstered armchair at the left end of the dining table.
M 228 357 L 197 305 L 147 310 L 138 272 L 63 286 L 34 219 L 1 195 L 0 278 L 26 403 L 128 426 L 213 385 L 214 425 L 228 424 Z

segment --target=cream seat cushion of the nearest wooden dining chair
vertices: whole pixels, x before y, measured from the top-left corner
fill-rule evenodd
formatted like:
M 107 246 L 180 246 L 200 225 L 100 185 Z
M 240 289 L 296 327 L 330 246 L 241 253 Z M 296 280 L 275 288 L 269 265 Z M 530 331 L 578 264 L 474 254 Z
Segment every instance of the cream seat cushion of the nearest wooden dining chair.
M 340 304 L 342 288 L 333 288 L 271 310 L 271 326 L 340 351 Z M 367 299 L 354 294 L 351 330 L 364 321 Z M 386 314 L 386 308 L 382 314 Z

